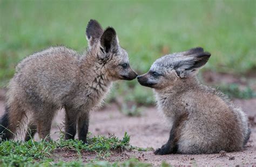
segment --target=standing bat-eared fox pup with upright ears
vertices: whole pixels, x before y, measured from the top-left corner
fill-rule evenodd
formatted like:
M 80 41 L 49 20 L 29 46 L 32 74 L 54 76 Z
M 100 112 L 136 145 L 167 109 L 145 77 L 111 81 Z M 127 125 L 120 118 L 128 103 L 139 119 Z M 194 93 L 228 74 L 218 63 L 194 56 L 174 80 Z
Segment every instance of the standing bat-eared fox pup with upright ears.
M 26 113 L 32 114 L 25 140 L 36 132 L 50 140 L 51 122 L 65 108 L 65 139 L 86 143 L 89 112 L 100 104 L 113 81 L 132 80 L 137 73 L 127 52 L 119 46 L 116 31 L 105 31 L 96 20 L 86 28 L 89 48 L 84 55 L 66 47 L 50 47 L 26 57 L 16 67 L 6 93 L 5 113 L 0 121 L 2 140 L 12 139 Z

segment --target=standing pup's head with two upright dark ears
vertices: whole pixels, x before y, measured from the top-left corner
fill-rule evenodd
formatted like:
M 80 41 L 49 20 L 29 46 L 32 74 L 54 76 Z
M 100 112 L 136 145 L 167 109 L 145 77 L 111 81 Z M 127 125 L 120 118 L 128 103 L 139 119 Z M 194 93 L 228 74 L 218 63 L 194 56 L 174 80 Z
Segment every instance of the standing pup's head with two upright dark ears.
M 103 64 L 111 80 L 136 78 L 137 73 L 130 67 L 129 57 L 125 49 L 120 47 L 117 33 L 112 27 L 103 30 L 96 20 L 90 20 L 86 27 L 86 38 L 89 50 Z

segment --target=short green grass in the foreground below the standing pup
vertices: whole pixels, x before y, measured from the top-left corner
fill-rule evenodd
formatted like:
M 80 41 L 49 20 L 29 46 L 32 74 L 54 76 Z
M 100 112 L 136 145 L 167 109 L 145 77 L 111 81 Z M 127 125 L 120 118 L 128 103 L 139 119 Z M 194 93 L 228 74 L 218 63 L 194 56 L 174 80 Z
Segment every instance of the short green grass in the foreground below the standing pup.
M 152 166 L 149 163 L 139 162 L 136 158 L 131 158 L 124 162 L 110 163 L 103 161 L 106 156 L 110 156 L 114 150 L 132 150 L 152 151 L 153 148 L 137 148 L 132 147 L 130 136 L 125 133 L 123 139 L 118 139 L 116 136 L 109 137 L 94 136 L 88 139 L 89 144 L 83 144 L 78 140 L 64 140 L 60 137 L 57 141 L 51 142 L 35 142 L 30 140 L 24 141 L 2 141 L 0 144 L 0 166 L 102 166 L 102 167 L 117 167 L 117 166 Z M 72 161 L 63 161 L 53 156 L 56 150 L 69 150 L 77 153 L 77 158 Z M 91 159 L 87 163 L 81 156 L 82 151 L 95 152 L 95 159 Z M 58 151 L 56 152 L 56 154 Z M 170 166 L 163 162 L 161 166 Z

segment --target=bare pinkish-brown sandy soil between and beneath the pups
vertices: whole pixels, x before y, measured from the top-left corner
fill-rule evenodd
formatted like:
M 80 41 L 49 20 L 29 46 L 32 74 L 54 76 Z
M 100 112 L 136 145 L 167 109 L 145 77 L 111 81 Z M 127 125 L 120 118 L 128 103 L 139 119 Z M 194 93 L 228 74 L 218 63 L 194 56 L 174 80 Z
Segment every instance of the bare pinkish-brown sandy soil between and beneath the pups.
M 250 100 L 234 100 L 235 104 L 241 106 L 248 113 L 252 122 L 256 119 L 256 99 Z M 130 143 L 132 146 L 153 147 L 154 149 L 161 147 L 166 142 L 169 135 L 169 129 L 165 125 L 165 121 L 160 117 L 155 107 L 144 108 L 142 117 L 127 117 L 118 111 L 118 107 L 114 104 L 106 105 L 103 110 L 91 113 L 90 132 L 92 135 L 108 135 L 114 134 L 123 137 L 127 132 L 131 136 Z M 0 101 L 0 114 L 3 113 L 3 101 Z M 52 125 L 52 139 L 58 139 L 59 128 L 63 127 L 64 112 L 59 111 Z M 38 136 L 36 136 L 38 140 Z M 71 161 L 76 159 L 77 154 L 72 150 L 56 151 L 55 159 L 63 159 Z M 84 162 L 95 158 L 93 153 L 83 153 Z M 164 155 L 156 156 L 153 151 L 124 151 L 123 153 L 115 152 L 107 161 L 124 161 L 131 157 L 138 158 L 142 162 L 159 165 L 162 161 L 166 161 L 172 165 L 256 165 L 256 126 L 252 127 L 252 135 L 245 150 L 235 153 L 211 154 L 211 155 Z

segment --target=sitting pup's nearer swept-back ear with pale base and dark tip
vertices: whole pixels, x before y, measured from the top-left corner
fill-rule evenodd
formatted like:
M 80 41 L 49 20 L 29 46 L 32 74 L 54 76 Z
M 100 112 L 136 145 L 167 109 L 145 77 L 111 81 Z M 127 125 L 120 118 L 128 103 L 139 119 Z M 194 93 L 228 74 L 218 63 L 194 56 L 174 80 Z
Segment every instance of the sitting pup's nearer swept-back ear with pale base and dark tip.
M 210 58 L 211 53 L 199 52 L 184 57 L 174 63 L 174 70 L 180 78 L 191 77 L 197 74 L 199 68 L 203 67 Z

